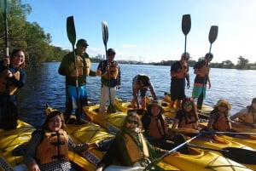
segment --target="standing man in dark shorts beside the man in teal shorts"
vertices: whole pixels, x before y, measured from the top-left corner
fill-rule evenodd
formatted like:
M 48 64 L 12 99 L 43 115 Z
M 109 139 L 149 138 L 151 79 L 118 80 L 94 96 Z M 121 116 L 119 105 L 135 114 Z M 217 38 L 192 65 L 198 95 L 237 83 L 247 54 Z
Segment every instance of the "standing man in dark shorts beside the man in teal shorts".
M 184 78 L 187 78 L 189 88 L 189 67 L 187 64 L 189 58 L 189 53 L 183 53 L 181 59 L 171 66 L 171 108 L 174 107 L 174 103 L 176 102 L 176 109 L 178 109 L 181 100 L 186 97 Z

